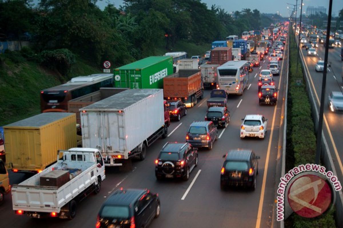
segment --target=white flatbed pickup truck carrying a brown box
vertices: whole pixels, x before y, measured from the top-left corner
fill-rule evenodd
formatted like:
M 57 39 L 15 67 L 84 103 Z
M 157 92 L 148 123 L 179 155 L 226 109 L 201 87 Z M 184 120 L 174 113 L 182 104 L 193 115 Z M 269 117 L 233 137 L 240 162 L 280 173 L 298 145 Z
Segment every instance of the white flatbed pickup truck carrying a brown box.
M 44 178 L 55 170 L 68 171 L 64 173 L 70 175 L 70 180 L 60 187 L 42 186 L 41 177 Z M 27 214 L 34 218 L 72 219 L 76 215 L 77 204 L 92 192 L 99 193 L 104 179 L 105 165 L 99 150 L 59 150 L 57 163 L 24 182 L 13 185 L 13 210 L 16 214 Z

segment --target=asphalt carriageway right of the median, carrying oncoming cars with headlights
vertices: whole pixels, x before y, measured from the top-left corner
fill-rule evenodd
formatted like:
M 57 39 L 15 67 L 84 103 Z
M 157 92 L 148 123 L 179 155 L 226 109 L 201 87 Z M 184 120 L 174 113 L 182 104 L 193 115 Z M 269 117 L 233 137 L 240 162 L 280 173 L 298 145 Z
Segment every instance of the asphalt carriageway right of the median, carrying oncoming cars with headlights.
M 325 48 L 323 44 L 319 44 L 317 48 L 317 56 L 307 56 L 305 48 L 302 50 L 301 57 L 305 59 L 305 70 L 310 76 L 310 85 L 314 89 L 314 96 L 316 105 L 319 110 L 320 96 L 323 72 L 316 72 L 315 65 L 319 59 L 324 60 Z M 329 49 L 328 62 L 331 67 L 328 67 L 327 81 L 325 90 L 325 103 L 324 103 L 324 121 L 323 132 L 328 141 L 328 147 L 333 158 L 333 163 L 336 167 L 338 179 L 343 182 L 343 113 L 332 112 L 328 105 L 328 96 L 332 91 L 343 91 L 343 64 L 341 61 L 341 47 Z

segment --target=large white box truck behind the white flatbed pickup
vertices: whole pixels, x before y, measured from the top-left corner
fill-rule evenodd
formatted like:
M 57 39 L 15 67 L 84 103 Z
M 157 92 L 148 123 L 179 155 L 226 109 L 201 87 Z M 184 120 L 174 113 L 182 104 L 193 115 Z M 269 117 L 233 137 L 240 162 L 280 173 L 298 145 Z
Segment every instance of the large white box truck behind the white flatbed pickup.
M 162 89 L 132 89 L 80 109 L 82 145 L 97 148 L 106 166 L 144 160 L 146 148 L 166 138 Z

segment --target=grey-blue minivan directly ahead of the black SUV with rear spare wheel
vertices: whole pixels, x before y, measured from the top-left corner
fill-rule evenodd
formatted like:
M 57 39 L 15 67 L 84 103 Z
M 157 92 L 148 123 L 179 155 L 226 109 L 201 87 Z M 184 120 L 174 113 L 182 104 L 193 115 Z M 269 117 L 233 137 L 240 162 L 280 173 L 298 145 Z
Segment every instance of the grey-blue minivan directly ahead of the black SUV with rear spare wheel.
M 218 138 L 218 130 L 212 121 L 196 121 L 189 126 L 186 141 L 193 147 L 208 147 Z

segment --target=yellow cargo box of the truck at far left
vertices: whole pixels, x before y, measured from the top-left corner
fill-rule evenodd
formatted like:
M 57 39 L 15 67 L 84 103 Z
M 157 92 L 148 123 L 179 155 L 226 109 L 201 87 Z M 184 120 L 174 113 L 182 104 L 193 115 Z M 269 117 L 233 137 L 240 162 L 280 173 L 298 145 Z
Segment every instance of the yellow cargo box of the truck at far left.
M 39 173 L 56 151 L 76 147 L 75 113 L 46 112 L 5 125 L 6 165 L 14 173 Z

